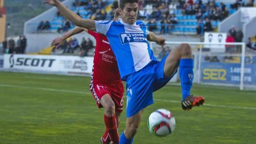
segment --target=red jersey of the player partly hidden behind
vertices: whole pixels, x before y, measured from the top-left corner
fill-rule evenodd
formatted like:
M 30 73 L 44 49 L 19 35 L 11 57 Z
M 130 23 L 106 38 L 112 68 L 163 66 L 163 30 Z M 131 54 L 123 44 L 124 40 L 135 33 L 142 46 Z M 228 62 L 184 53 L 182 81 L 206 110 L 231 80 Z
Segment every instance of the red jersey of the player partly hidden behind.
M 115 55 L 105 35 L 88 30 L 96 40 L 91 83 L 115 83 L 121 81 Z

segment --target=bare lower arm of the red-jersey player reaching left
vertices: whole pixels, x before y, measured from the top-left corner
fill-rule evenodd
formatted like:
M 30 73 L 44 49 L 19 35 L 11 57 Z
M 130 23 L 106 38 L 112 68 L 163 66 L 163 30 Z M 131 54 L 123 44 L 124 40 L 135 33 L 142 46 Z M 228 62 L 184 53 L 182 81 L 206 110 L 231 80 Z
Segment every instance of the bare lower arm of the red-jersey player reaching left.
M 63 44 L 63 42 L 65 42 L 65 40 L 66 40 L 67 38 L 71 37 L 72 35 L 81 33 L 81 32 L 83 32 L 83 31 L 85 31 L 85 32 L 88 33 L 88 30 L 87 30 L 87 29 L 77 26 L 77 27 L 75 27 L 74 29 L 72 29 L 71 31 L 65 33 L 62 37 L 54 39 L 54 40 L 51 42 L 51 46 L 56 45 L 56 48 L 58 48 L 60 45 Z

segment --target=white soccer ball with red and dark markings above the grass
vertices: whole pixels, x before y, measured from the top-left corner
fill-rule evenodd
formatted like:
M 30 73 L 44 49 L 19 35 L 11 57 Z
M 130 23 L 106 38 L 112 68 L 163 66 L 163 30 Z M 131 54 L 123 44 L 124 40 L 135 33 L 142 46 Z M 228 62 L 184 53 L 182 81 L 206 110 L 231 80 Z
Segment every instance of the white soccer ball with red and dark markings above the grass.
M 147 125 L 151 133 L 157 136 L 167 136 L 175 129 L 175 118 L 167 109 L 157 109 L 150 114 Z

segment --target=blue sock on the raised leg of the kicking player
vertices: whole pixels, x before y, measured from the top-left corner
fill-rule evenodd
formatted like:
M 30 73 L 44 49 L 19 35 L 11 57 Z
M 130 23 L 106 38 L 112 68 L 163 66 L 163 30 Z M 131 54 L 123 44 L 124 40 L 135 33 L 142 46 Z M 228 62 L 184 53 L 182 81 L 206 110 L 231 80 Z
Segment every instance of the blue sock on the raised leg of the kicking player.
M 180 59 L 179 61 L 179 78 L 182 88 L 182 100 L 190 95 L 194 72 L 193 59 Z

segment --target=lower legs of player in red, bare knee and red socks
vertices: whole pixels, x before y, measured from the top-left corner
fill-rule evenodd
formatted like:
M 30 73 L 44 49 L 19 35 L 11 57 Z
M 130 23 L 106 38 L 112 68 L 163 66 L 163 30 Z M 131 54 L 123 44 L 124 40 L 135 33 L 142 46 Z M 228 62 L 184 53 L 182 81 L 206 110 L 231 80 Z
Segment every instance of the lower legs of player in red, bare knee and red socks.
M 100 103 L 105 109 L 104 122 L 106 125 L 106 131 L 102 137 L 103 143 L 109 143 L 108 136 L 113 143 L 119 143 L 119 134 L 117 129 L 117 119 L 115 115 L 115 103 L 111 99 L 109 94 L 105 94 L 100 99 Z

